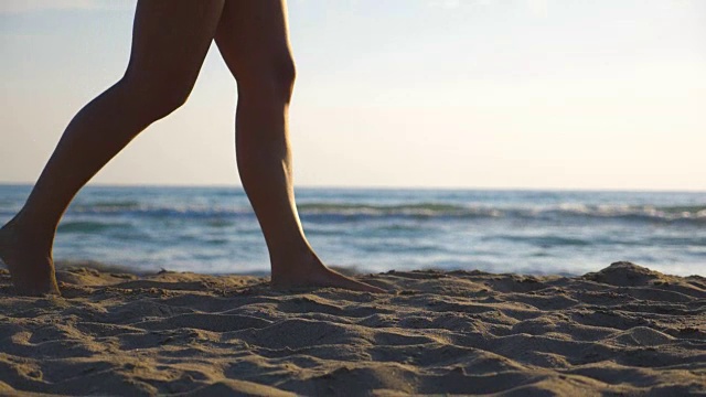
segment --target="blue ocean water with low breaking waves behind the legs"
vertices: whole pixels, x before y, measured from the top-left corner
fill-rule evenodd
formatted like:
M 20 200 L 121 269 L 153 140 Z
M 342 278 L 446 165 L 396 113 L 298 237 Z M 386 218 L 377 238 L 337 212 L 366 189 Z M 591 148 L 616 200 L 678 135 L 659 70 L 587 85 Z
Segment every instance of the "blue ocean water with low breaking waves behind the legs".
M 0 185 L 0 223 L 31 186 Z M 304 230 L 329 265 L 580 275 L 629 260 L 706 276 L 706 193 L 297 189 Z M 58 227 L 57 261 L 137 271 L 266 273 L 240 187 L 87 186 Z

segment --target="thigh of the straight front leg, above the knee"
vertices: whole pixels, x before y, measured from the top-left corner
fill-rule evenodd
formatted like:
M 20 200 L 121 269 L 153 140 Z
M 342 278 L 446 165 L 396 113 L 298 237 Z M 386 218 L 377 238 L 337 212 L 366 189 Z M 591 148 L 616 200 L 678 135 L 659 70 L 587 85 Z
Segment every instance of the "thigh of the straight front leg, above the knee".
M 238 85 L 272 72 L 293 75 L 285 0 L 226 0 L 215 41 Z

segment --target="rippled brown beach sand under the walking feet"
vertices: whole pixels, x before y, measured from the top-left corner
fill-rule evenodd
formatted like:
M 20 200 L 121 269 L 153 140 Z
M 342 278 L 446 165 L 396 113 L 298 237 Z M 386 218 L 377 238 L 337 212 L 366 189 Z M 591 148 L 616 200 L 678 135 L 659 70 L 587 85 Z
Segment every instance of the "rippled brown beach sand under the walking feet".
M 706 279 L 629 262 L 359 276 L 391 294 L 67 268 L 20 298 L 0 271 L 6 395 L 706 394 Z

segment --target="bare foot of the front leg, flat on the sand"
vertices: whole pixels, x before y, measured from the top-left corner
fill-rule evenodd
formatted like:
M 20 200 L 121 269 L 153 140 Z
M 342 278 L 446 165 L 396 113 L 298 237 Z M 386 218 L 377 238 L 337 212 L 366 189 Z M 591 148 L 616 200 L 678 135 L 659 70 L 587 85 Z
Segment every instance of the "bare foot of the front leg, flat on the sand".
M 352 291 L 387 293 L 384 289 L 366 285 L 345 277 L 325 267 L 313 254 L 299 265 L 287 264 L 285 271 L 275 271 L 271 277 L 272 289 L 288 290 L 307 287 L 333 287 Z

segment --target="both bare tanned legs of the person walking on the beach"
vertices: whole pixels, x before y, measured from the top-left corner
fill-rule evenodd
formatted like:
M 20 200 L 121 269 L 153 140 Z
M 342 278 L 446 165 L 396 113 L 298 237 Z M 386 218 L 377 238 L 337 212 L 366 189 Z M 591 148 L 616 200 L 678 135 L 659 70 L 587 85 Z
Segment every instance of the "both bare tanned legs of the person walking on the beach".
M 26 203 L 0 228 L 0 258 L 17 293 L 60 294 L 52 245 L 68 204 L 135 137 L 186 101 L 213 40 L 237 82 L 237 165 L 267 242 L 272 288 L 384 292 L 329 269 L 304 236 L 288 130 L 296 69 L 285 0 L 139 0 L 125 76 L 74 117 Z

